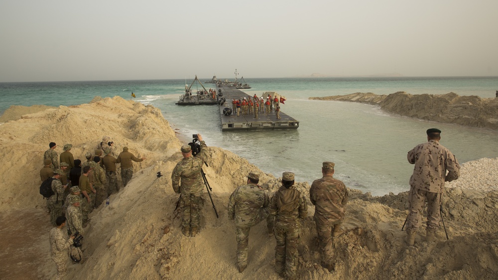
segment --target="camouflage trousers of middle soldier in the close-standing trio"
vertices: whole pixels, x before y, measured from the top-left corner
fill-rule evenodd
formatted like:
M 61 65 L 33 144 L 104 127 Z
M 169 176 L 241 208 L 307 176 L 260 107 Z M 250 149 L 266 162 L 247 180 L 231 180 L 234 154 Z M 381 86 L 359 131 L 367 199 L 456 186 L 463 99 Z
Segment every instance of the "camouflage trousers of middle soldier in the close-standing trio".
M 278 274 L 285 271 L 287 279 L 296 279 L 297 243 L 299 226 L 282 227 L 275 225 L 275 270 Z

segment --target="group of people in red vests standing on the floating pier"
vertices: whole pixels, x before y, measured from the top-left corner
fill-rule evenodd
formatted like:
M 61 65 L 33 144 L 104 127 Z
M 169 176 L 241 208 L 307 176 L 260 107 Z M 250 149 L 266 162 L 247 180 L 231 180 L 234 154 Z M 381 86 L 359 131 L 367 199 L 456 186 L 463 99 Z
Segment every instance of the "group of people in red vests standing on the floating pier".
M 232 100 L 232 109 L 234 113 L 237 112 L 237 117 L 241 114 L 243 116 L 254 115 L 254 119 L 258 119 L 258 113 L 265 113 L 267 116 L 274 110 L 276 118 L 281 119 L 278 98 L 276 96 L 271 98 L 269 94 L 266 101 L 262 97 L 258 98 L 255 94 L 252 98 L 249 97 L 249 99 L 244 97 L 242 100 L 236 100 L 234 98 Z

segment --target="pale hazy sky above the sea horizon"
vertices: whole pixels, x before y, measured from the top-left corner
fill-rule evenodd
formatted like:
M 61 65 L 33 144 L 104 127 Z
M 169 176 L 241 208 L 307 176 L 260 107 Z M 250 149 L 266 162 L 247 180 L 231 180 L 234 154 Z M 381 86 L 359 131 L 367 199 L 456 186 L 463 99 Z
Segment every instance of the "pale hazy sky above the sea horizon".
M 498 76 L 498 0 L 1 0 L 0 82 Z

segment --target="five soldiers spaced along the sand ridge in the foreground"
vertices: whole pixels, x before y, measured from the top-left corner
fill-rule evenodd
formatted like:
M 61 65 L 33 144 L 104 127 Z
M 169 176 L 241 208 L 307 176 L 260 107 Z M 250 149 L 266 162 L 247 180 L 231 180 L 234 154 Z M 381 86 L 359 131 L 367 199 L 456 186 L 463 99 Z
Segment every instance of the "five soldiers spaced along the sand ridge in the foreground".
M 407 244 L 413 246 L 415 232 L 427 202 L 426 241 L 435 240 L 440 221 L 440 205 L 444 182 L 460 176 L 455 156 L 439 143 L 441 131 L 427 130 L 427 142 L 408 152 L 408 162 L 415 164 L 410 178 L 408 195 Z M 172 174 L 173 189 L 181 193 L 183 206 L 182 233 L 196 236 L 199 230 L 203 182 L 201 168 L 205 160 L 206 144 L 201 140 L 201 151 L 192 156 L 189 145 L 181 147 L 183 159 Z M 345 184 L 334 178 L 335 163 L 322 163 L 322 178 L 313 181 L 309 190 L 310 202 L 315 206 L 316 225 L 321 265 L 334 269 L 333 240 L 344 233 L 341 227 L 348 203 Z M 275 236 L 275 270 L 279 276 L 296 279 L 297 245 L 301 220 L 307 216 L 307 202 L 303 193 L 294 187 L 294 173 L 282 173 L 282 185 L 270 198 L 258 186 L 259 174 L 250 172 L 246 184 L 237 187 L 228 202 L 228 217 L 235 221 L 237 239 L 237 266 L 242 273 L 248 265 L 249 230 L 266 220 L 268 235 Z

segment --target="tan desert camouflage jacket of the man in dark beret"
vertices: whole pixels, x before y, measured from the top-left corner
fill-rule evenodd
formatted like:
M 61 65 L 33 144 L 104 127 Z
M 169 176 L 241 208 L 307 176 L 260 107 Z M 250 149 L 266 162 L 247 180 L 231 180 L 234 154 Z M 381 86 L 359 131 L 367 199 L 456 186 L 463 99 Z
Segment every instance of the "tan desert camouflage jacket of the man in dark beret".
M 442 193 L 445 181 L 451 182 L 460 176 L 460 164 L 439 141 L 429 140 L 415 146 L 407 158 L 408 162 L 415 164 L 410 186 L 416 189 Z

